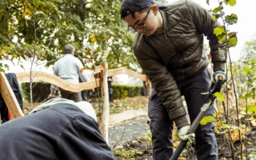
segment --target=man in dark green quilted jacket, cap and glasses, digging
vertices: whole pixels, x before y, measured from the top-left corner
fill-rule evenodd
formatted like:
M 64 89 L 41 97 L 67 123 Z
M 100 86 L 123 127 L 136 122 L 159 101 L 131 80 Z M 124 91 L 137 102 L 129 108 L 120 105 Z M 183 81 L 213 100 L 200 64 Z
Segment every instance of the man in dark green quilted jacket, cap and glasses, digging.
M 128 30 L 137 32 L 134 54 L 153 90 L 149 103 L 150 130 L 154 159 L 169 159 L 173 152 L 173 121 L 181 139 L 189 129 L 181 96 L 186 98 L 190 121 L 200 112 L 210 89 L 208 58 L 203 52 L 204 35 L 210 44 L 214 80 L 226 78 L 226 56 L 219 53 L 214 28 L 219 26 L 211 14 L 195 2 L 179 0 L 158 7 L 154 0 L 122 0 L 121 18 Z M 210 106 L 207 115 L 214 115 Z M 195 131 L 198 160 L 218 159 L 214 123 L 198 126 Z

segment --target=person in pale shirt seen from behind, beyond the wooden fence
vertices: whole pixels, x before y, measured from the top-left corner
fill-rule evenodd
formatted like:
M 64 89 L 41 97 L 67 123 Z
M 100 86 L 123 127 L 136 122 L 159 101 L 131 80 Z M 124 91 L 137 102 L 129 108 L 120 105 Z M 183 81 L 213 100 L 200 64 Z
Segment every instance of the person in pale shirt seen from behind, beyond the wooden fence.
M 83 68 L 82 62 L 74 57 L 74 46 L 67 44 L 63 48 L 63 57 L 58 59 L 54 63 L 54 75 L 57 75 L 59 78 L 62 78 L 66 82 L 70 83 L 79 83 L 79 78 L 82 82 L 89 82 L 90 78 L 84 72 L 80 72 Z M 50 95 L 48 98 L 53 98 L 54 93 L 58 89 L 58 86 L 50 86 Z M 68 90 L 63 90 L 59 88 L 62 98 L 67 98 L 73 100 L 74 102 L 82 101 L 81 92 L 71 92 Z

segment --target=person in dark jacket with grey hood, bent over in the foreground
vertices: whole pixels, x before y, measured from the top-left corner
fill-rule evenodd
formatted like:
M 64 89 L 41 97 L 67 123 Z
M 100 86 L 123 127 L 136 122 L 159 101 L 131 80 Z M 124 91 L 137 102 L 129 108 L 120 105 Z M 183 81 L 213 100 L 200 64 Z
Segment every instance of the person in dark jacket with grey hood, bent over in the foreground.
M 52 98 L 0 125 L 0 159 L 115 159 L 89 102 Z

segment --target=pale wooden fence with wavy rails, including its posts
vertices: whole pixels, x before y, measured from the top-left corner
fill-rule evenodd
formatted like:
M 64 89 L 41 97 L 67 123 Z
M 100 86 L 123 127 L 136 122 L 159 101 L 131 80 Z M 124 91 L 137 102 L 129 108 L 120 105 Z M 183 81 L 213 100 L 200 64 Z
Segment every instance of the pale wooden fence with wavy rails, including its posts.
M 65 82 L 61 78 L 58 78 L 54 74 L 47 74 L 42 71 L 34 71 L 34 77 L 33 82 L 48 82 L 50 84 L 54 84 L 55 86 L 58 86 L 62 88 L 63 90 L 70 90 L 72 92 L 78 92 L 82 90 L 90 90 L 93 88 L 96 88 L 98 86 L 101 86 L 102 89 L 102 118 L 99 118 L 99 127 L 102 131 L 103 138 L 105 138 L 106 142 L 108 142 L 108 126 L 113 124 L 114 122 L 120 122 L 122 120 L 126 120 L 124 118 L 120 118 L 120 116 L 117 115 L 117 118 L 115 119 L 114 116 L 109 116 L 109 97 L 108 97 L 108 86 L 107 86 L 107 78 L 112 77 L 118 74 L 127 74 L 130 77 L 141 79 L 142 81 L 147 82 L 147 88 L 148 95 L 150 96 L 151 93 L 151 83 L 144 74 L 138 74 L 137 72 L 134 72 L 132 70 L 128 70 L 125 67 L 114 69 L 114 70 L 107 70 L 107 63 L 102 62 L 101 66 L 99 67 L 101 69 L 101 77 L 100 78 L 90 78 L 90 82 L 81 82 L 78 84 Z M 18 78 L 18 82 L 30 82 L 30 72 L 22 72 L 16 74 Z M 23 116 L 22 110 L 20 109 L 17 99 L 14 96 L 13 91 L 10 88 L 9 83 L 6 82 L 5 75 L 1 73 L 0 77 L 0 92 L 3 94 L 4 100 L 6 102 L 6 106 L 10 110 L 10 114 L 13 118 L 18 118 L 20 116 Z M 9 86 L 8 86 L 9 85 Z M 143 113 L 145 113 L 145 110 L 143 110 Z M 134 114 L 136 116 L 138 114 Z M 119 117 L 119 118 L 118 118 Z M 111 118 L 111 119 L 109 119 Z M 132 116 L 129 116 L 129 118 L 133 118 Z

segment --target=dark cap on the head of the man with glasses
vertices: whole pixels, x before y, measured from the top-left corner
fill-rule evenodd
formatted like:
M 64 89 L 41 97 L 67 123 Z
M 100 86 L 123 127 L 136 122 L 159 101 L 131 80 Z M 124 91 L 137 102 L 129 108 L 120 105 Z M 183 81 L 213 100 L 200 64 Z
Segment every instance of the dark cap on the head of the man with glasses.
M 154 0 L 122 0 L 121 18 L 154 5 Z

